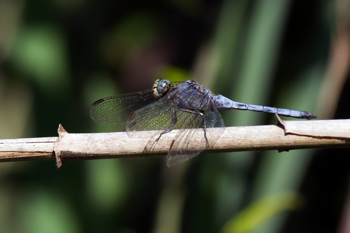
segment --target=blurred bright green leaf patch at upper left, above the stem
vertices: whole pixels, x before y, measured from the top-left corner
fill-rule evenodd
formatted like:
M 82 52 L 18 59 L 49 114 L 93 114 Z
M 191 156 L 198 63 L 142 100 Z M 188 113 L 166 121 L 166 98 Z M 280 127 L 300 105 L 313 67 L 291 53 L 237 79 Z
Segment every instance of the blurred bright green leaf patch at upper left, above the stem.
M 19 29 L 12 52 L 16 67 L 49 91 L 66 85 L 67 58 L 62 33 L 48 26 Z

